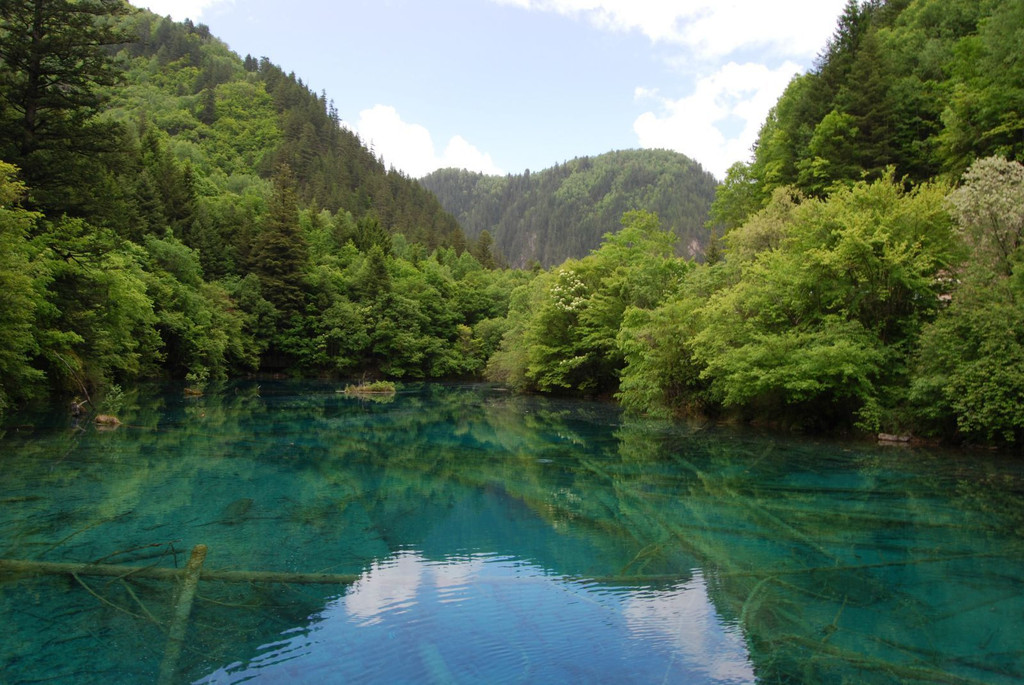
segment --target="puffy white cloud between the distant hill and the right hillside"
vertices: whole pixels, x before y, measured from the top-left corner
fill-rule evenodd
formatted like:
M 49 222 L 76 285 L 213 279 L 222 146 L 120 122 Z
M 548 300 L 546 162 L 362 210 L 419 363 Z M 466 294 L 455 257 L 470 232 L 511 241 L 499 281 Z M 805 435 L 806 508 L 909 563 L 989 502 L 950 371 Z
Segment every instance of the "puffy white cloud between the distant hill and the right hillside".
M 638 88 L 638 98 L 655 98 L 659 106 L 640 115 L 633 130 L 641 146 L 683 153 L 721 179 L 732 163 L 750 158 L 768 112 L 800 71 L 792 61 L 774 70 L 730 61 L 697 80 L 693 93 L 680 99 Z M 741 122 L 738 133 L 726 128 L 733 122 Z

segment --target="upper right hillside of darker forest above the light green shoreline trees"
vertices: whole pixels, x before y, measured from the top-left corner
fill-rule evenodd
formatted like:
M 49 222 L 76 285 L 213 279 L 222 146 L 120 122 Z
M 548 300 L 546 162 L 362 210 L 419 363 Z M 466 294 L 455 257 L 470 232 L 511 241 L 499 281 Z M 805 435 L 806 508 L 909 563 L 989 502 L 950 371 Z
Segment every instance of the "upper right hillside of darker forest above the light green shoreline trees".
M 955 182 L 1024 155 L 1024 6 L 1016 0 L 849 0 L 814 69 L 791 82 L 714 214 L 737 226 L 786 186 L 822 198 L 893 170 Z

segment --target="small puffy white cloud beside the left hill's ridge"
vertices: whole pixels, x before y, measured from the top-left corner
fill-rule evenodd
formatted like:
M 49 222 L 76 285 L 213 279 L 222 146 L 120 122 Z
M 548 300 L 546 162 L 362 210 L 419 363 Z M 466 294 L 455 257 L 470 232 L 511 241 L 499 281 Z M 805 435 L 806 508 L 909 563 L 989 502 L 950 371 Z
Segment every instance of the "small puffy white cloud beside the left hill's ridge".
M 485 174 L 504 173 L 489 155 L 460 135 L 454 136 L 438 156 L 430 131 L 419 124 L 402 121 L 398 112 L 386 104 L 376 104 L 360 112 L 355 130 L 386 164 L 394 165 L 413 178 L 444 167 Z

